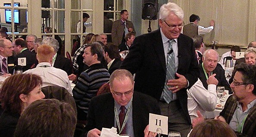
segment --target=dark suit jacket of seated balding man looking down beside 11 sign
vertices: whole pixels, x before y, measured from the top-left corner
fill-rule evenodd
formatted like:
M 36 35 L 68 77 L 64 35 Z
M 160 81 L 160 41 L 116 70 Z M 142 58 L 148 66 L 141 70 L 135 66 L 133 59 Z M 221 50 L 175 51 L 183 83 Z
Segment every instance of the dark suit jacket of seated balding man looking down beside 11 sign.
M 144 137 L 144 129 L 149 124 L 149 113 L 160 114 L 157 101 L 150 96 L 135 91 L 132 100 L 134 137 Z M 115 112 L 112 93 L 104 93 L 92 98 L 84 133 L 94 128 L 101 131 L 102 128 L 112 128 L 114 126 Z M 84 137 L 87 137 L 87 135 Z

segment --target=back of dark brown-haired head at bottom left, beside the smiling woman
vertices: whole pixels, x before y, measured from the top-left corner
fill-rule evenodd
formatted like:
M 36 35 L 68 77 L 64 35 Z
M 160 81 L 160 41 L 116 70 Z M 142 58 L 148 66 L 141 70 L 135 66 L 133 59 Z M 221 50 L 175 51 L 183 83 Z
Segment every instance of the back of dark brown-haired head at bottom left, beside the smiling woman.
M 56 99 L 37 100 L 22 112 L 14 137 L 73 137 L 75 111 Z

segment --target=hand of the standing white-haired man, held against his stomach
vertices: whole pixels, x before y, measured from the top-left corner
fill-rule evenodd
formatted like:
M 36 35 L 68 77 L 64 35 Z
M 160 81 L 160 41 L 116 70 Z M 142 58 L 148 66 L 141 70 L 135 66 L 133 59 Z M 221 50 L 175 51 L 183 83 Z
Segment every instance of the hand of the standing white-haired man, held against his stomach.
M 176 93 L 178 90 L 187 87 L 187 79 L 184 77 L 184 75 L 176 73 L 176 76 L 178 79 L 170 79 L 167 82 L 167 85 L 171 86 L 168 89 L 172 90 L 172 93 Z

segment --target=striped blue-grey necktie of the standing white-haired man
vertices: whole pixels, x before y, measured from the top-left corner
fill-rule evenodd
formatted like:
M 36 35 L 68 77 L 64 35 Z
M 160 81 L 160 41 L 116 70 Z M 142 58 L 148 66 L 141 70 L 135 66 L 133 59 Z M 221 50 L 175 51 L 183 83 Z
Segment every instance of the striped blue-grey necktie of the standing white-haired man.
M 172 50 L 172 42 L 173 40 L 169 40 L 169 47 L 168 47 L 168 55 L 167 55 L 167 65 L 166 65 L 166 78 L 165 81 L 167 82 L 169 79 L 175 79 L 175 55 Z M 173 97 L 173 93 L 171 90 L 168 90 L 168 87 L 165 83 L 165 87 L 163 90 L 163 98 L 166 103 L 170 103 Z

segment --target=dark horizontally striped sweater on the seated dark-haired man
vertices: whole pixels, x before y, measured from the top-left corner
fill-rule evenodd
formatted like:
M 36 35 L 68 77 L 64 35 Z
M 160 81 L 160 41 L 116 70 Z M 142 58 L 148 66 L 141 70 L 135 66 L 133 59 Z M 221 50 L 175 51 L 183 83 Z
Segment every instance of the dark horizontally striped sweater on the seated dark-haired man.
M 89 66 L 81 73 L 75 85 L 73 97 L 77 106 L 87 113 L 91 98 L 95 97 L 98 89 L 109 81 L 109 72 L 100 63 Z

